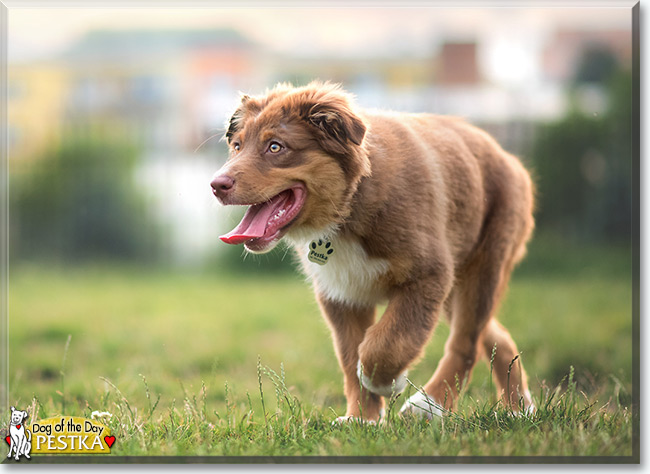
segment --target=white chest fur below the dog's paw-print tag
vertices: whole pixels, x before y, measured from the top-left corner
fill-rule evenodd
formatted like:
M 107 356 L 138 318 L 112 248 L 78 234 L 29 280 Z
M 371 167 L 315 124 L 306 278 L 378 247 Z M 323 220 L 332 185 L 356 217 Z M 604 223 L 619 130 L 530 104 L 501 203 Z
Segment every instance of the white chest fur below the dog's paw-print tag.
M 334 252 L 325 265 L 309 261 L 308 241 L 292 241 L 316 289 L 327 298 L 342 303 L 374 305 L 385 300 L 380 277 L 388 271 L 388 261 L 368 257 L 357 241 L 336 236 L 330 241 Z

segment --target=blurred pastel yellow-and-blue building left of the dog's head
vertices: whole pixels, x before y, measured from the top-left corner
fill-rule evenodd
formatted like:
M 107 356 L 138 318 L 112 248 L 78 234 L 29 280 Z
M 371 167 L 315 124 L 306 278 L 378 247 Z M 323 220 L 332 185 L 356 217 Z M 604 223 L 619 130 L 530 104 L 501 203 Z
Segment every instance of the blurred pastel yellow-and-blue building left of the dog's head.
M 231 30 L 94 31 L 56 61 L 10 65 L 9 156 L 32 156 L 64 133 L 194 149 L 245 85 L 253 50 Z

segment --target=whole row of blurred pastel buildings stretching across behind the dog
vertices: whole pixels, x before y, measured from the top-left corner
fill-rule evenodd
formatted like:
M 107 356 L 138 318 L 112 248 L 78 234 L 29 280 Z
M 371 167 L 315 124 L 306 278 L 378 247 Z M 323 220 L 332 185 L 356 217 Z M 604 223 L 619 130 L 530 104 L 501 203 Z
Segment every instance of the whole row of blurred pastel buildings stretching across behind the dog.
M 223 133 L 239 91 L 315 78 L 343 83 L 365 107 L 460 115 L 492 128 L 548 120 L 564 113 L 564 84 L 595 44 L 629 61 L 627 31 L 560 30 L 541 51 L 543 81 L 513 87 L 485 80 L 478 41 L 443 42 L 430 58 L 305 58 L 272 54 L 227 29 L 93 31 L 56 60 L 10 65 L 9 153 L 33 156 L 64 132 L 194 150 Z M 500 138 L 515 152 L 523 146 Z

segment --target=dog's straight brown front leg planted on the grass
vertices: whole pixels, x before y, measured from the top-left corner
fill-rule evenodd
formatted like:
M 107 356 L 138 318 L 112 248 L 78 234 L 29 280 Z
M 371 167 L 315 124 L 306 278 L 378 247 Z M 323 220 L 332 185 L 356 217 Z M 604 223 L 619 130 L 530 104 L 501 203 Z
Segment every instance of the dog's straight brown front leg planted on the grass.
M 375 308 L 338 303 L 322 295 L 317 295 L 317 298 L 323 316 L 332 330 L 336 356 L 343 370 L 347 399 L 345 415 L 348 418 L 377 420 L 381 414 L 383 399 L 368 390 L 362 390 L 357 377 L 359 344 L 375 320 Z

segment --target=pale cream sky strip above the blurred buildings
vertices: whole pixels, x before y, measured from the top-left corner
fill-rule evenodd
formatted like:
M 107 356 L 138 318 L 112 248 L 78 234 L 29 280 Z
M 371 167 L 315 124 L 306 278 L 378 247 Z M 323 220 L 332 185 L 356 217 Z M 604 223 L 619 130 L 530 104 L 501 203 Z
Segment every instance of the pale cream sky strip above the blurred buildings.
M 9 10 L 11 60 L 57 52 L 93 29 L 232 27 L 276 51 L 421 55 L 441 37 L 543 38 L 555 28 L 630 28 L 630 8 L 277 8 Z M 516 30 L 516 31 L 513 31 Z

